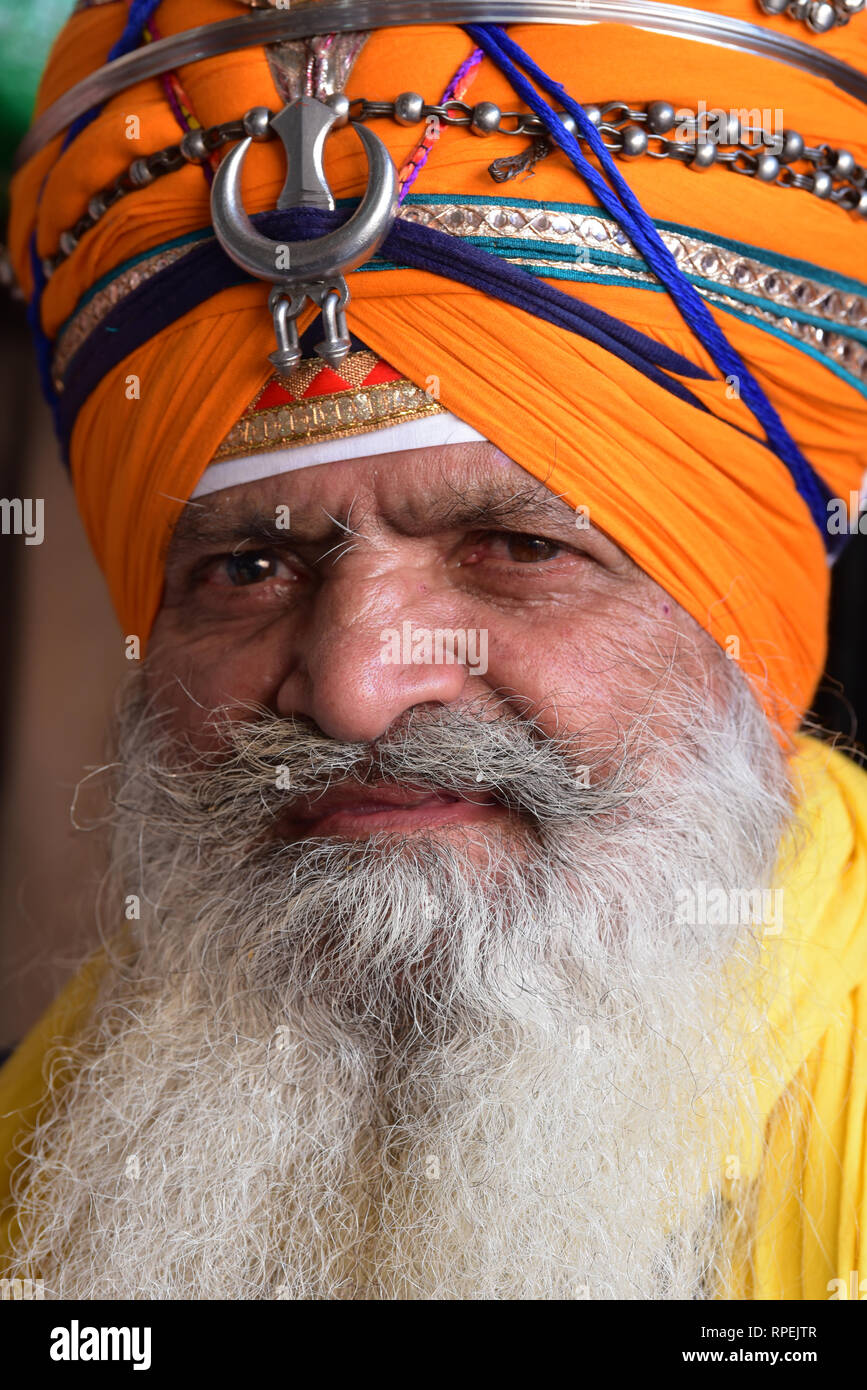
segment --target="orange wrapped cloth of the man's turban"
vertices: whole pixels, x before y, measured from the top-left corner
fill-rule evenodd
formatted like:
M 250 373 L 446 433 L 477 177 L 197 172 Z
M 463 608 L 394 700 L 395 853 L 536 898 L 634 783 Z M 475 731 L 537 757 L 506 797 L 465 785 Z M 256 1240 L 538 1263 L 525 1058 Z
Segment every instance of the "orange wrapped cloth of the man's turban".
M 786 17 L 763 15 L 756 0 L 713 0 L 703 8 L 796 36 L 864 70 L 867 21 L 859 24 L 860 15 L 846 28 L 811 35 Z M 245 14 L 247 6 L 235 0 L 163 0 L 144 38 Z M 54 46 L 39 111 L 106 61 L 126 19 L 119 0 L 71 17 Z M 675 108 L 696 110 L 703 101 L 709 110 L 784 113 L 785 126 L 809 147 L 845 149 L 856 168 L 867 163 L 866 106 L 792 64 L 628 25 L 520 24 L 509 33 L 578 101 L 645 108 L 664 97 Z M 393 101 L 415 90 L 436 103 L 472 49 L 453 25 L 375 31 L 346 93 Z M 489 58 L 477 68 L 467 100 L 527 110 Z M 38 256 L 54 256 L 61 234 L 131 157 L 176 143 L 182 115 L 188 125 L 210 126 L 276 104 L 267 51 L 243 49 L 183 65 L 171 86 L 150 78 L 125 89 L 67 147 L 56 136 L 13 186 L 11 252 L 25 292 L 36 288 L 33 234 Z M 420 138 L 392 121 L 378 121 L 377 133 L 397 167 Z M 552 250 L 543 231 L 535 252 L 525 236 L 515 256 L 563 293 L 710 373 L 710 381 L 689 382 L 707 409 L 565 328 L 429 271 L 386 265 L 353 272 L 349 328 L 411 382 L 438 378 L 445 409 L 567 502 L 586 507 L 595 525 L 738 656 L 768 716 L 791 730 L 824 664 L 827 538 L 788 467 L 759 438 L 732 382 L 721 378 L 671 296 L 622 238 L 617 242 L 617 228 L 599 215 L 567 156 L 554 150 L 529 179 L 493 182 L 492 160 L 525 143 L 506 133 L 477 139 L 446 125 L 404 213 L 475 207 L 492 245 L 509 227 L 525 228 L 552 208 L 572 225 L 584 218 L 585 232 L 596 225 L 603 249 L 586 261 L 572 256 L 570 263 L 563 247 Z M 365 161 L 352 128 L 329 138 L 325 164 L 336 199 L 363 192 Z M 863 218 L 834 197 L 810 193 L 807 179 L 784 188 L 738 178 L 720 163 L 697 172 L 677 158 L 642 157 L 620 167 L 668 245 L 679 247 L 682 268 L 827 489 L 848 500 L 866 468 L 867 285 L 857 279 Z M 809 165 L 793 167 L 810 172 Z M 278 143 L 254 145 L 245 165 L 247 211 L 272 208 L 283 178 Z M 185 165 L 119 197 L 47 281 L 39 302 L 46 338 L 57 346 L 76 316 L 110 295 L 131 267 L 143 274 L 149 257 L 175 254 L 183 238 L 207 231 L 208 196 L 203 167 Z M 550 228 L 550 220 L 538 227 Z M 272 348 L 267 288 L 250 281 L 218 292 L 135 348 L 81 404 L 69 442 L 75 492 L 126 632 L 147 635 L 183 499 L 271 375 Z M 131 378 L 140 384 L 133 399 Z

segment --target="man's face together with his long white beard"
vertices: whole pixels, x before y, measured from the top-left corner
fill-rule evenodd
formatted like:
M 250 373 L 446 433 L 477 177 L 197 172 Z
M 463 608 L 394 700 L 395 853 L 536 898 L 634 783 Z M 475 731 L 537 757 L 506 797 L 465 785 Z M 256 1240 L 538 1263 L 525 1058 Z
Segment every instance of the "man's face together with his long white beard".
M 764 887 L 789 810 L 710 637 L 453 446 L 190 505 L 142 677 L 104 892 L 136 905 L 129 959 L 63 1054 L 86 1084 L 35 1145 L 22 1273 L 82 1298 L 710 1289 L 759 937 L 679 903 Z

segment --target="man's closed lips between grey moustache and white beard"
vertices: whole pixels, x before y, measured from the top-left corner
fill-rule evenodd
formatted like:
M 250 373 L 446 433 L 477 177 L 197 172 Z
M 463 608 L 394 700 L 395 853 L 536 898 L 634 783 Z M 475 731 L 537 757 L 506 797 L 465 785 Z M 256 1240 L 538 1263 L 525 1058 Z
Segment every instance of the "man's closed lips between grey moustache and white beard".
M 482 787 L 461 796 L 429 787 L 343 784 L 321 796 L 296 802 L 281 816 L 281 830 L 290 840 L 308 835 L 363 838 L 386 830 L 406 833 L 502 815 L 503 808 Z

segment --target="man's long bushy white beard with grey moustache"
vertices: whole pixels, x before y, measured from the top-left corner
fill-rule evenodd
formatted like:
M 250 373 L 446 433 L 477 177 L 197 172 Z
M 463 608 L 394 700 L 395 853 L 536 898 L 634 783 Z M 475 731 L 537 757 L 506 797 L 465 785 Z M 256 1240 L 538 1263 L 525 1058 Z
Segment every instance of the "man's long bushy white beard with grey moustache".
M 761 927 L 675 903 L 768 887 L 791 816 L 720 663 L 725 712 L 664 687 L 679 737 L 584 746 L 574 803 L 575 749 L 536 764 L 522 720 L 410 724 L 408 781 L 465 785 L 467 730 L 496 727 L 486 784 L 538 792 L 475 867 L 454 835 L 263 848 L 265 748 L 303 735 L 299 776 L 356 755 L 272 720 L 243 766 L 258 723 L 236 762 L 165 776 L 133 699 L 111 881 L 142 919 L 53 1055 L 74 1080 L 26 1141 L 11 1273 L 63 1298 L 711 1295 Z

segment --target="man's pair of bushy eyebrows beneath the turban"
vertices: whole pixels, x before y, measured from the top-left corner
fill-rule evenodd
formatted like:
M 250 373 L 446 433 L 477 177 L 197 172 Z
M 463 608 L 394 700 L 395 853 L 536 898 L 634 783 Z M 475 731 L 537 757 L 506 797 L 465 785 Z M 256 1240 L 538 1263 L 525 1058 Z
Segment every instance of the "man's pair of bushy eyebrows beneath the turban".
M 411 514 L 389 524 L 404 535 L 425 535 L 431 531 L 460 528 L 496 530 L 497 527 L 532 527 L 539 524 L 559 528 L 574 524 L 574 512 L 561 498 L 540 486 L 503 492 L 495 486 L 450 488 L 450 495 L 413 506 Z M 327 543 L 346 539 L 347 532 L 364 530 L 363 521 L 350 527 L 349 517 L 340 521 L 321 509 L 314 521 L 307 517 L 290 528 L 281 525 L 274 512 L 261 506 L 243 506 L 236 512 L 208 512 L 189 507 L 175 527 L 170 545 L 172 560 L 206 549 L 232 550 L 242 545 L 286 546 L 299 543 Z

